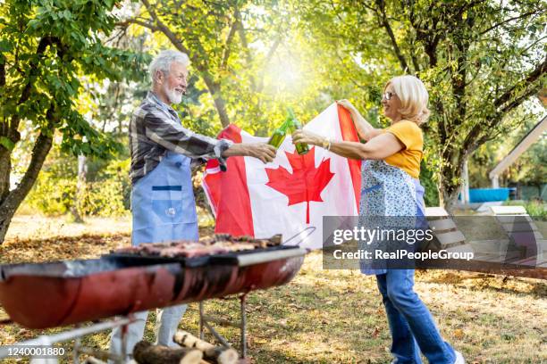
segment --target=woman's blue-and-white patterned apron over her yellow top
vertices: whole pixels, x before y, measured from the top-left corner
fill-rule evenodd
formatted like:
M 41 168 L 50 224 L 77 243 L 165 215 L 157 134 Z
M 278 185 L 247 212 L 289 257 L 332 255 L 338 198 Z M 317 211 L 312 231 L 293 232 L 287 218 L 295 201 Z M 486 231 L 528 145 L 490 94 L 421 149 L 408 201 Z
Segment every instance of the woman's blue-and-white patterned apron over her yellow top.
M 423 227 L 425 216 L 424 187 L 417 178 L 385 161 L 363 161 L 361 167 L 361 201 L 359 227 Z M 373 217 L 373 218 L 371 218 Z M 378 217 L 374 219 L 374 217 Z M 389 219 L 389 217 L 396 217 Z M 420 219 L 421 218 L 421 219 Z M 382 226 L 379 226 L 382 225 Z M 375 242 L 378 244 L 379 242 Z M 374 243 L 371 244 L 374 246 Z M 364 250 L 372 249 L 363 246 Z M 384 274 L 387 267 L 361 261 L 361 272 Z

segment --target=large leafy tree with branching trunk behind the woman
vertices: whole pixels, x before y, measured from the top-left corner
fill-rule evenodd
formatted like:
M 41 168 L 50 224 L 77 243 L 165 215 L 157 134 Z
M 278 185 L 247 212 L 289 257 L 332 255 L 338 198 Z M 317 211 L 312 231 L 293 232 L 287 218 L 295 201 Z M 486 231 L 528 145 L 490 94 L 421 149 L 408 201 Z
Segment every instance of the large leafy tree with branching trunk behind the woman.
M 332 90 L 354 85 L 345 97 L 356 105 L 377 107 L 374 95 L 393 76 L 425 82 L 428 163 L 447 205 L 458 195 L 467 157 L 516 128 L 504 118 L 545 85 L 546 9 L 536 1 L 295 3 L 321 52 L 319 65 L 310 66 L 336 83 Z

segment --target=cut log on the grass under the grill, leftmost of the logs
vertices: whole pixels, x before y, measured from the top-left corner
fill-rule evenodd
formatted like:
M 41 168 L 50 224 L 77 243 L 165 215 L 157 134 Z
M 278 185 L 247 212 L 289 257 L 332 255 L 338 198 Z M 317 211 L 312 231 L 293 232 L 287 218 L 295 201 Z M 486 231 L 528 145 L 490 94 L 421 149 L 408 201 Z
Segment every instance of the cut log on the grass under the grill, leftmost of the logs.
M 140 341 L 133 349 L 133 358 L 139 364 L 199 364 L 203 352 L 189 348 L 170 348 Z

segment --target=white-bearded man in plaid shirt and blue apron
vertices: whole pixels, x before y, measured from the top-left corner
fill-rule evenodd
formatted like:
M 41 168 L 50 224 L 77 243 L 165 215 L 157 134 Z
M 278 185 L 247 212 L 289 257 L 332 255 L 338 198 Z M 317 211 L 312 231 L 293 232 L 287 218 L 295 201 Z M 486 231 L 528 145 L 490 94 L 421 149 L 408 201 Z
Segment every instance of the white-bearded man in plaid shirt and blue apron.
M 181 126 L 173 103 L 181 103 L 188 81 L 188 55 L 168 50 L 150 63 L 152 90 L 130 121 L 130 180 L 133 245 L 172 240 L 198 240 L 198 218 L 190 164 L 215 158 L 225 170 L 225 159 L 235 155 L 273 161 L 275 148 L 266 144 L 232 144 L 193 133 Z M 174 345 L 186 305 L 159 310 L 156 343 Z M 127 352 L 144 333 L 147 311 L 135 316 L 127 335 Z M 122 352 L 122 330 L 114 329 L 111 352 Z

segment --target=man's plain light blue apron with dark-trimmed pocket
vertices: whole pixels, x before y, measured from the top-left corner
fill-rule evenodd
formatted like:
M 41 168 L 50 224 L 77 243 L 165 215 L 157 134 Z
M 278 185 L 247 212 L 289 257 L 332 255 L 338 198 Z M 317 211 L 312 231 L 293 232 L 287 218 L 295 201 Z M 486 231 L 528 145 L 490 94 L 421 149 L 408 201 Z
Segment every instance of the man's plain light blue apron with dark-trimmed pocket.
M 198 240 L 191 159 L 167 151 L 131 190 L 131 244 Z

